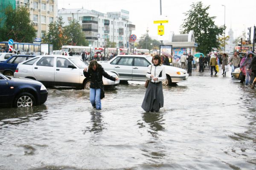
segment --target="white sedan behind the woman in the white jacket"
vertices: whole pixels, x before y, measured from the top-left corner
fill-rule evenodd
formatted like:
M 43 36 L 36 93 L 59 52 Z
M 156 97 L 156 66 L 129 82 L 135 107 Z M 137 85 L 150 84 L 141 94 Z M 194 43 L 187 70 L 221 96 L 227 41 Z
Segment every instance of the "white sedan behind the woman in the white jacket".
M 117 55 L 108 62 L 100 64 L 105 70 L 116 73 L 121 81 L 146 81 L 148 66 L 151 65 L 152 57 L 148 55 Z M 184 69 L 173 66 L 164 66 L 166 80 L 163 85 L 174 85 L 188 80 L 188 73 Z

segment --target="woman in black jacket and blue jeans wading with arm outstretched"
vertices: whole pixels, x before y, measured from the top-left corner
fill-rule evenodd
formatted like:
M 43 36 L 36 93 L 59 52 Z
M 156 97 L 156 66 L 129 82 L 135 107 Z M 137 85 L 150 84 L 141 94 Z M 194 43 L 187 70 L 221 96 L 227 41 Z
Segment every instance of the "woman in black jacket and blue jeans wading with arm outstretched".
M 96 60 L 90 62 L 88 69 L 84 68 L 84 76 L 91 80 L 90 83 L 90 102 L 92 106 L 96 109 L 101 109 L 101 92 L 104 92 L 104 86 L 102 82 L 102 76 L 108 78 L 109 80 L 116 81 L 118 78 L 114 78 L 108 75 L 102 68 L 102 66 L 97 63 Z

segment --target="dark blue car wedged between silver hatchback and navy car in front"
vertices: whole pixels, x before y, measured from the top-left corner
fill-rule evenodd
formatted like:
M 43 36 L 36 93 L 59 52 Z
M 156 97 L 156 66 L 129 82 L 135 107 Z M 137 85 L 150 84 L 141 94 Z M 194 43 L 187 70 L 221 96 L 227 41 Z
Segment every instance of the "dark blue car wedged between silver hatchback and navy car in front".
M 3 73 L 3 75 L 13 76 L 18 63 L 33 57 L 35 57 L 35 55 L 12 55 L 6 61 L 0 62 L 0 72 Z

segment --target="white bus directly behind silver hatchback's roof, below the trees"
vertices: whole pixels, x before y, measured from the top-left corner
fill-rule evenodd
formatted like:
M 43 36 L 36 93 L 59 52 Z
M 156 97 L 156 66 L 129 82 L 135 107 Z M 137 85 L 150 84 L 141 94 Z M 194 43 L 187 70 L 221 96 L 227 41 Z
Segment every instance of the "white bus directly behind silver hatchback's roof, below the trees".
M 92 53 L 93 55 L 94 53 L 93 47 L 90 47 L 90 46 L 62 46 L 61 47 L 62 53 L 67 52 L 67 55 L 68 55 L 70 51 L 72 52 L 73 56 L 79 56 L 79 57 L 83 52 L 86 52 L 87 55 L 89 55 L 90 53 Z

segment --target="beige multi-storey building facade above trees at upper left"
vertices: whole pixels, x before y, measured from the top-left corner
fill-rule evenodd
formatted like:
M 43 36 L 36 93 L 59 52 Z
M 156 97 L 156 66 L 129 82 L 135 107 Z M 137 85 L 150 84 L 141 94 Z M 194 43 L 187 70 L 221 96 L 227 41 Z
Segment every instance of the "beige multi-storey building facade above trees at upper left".
M 36 29 L 36 36 L 44 38 L 49 24 L 57 19 L 57 0 L 16 0 L 16 7 L 27 6 L 30 20 Z

